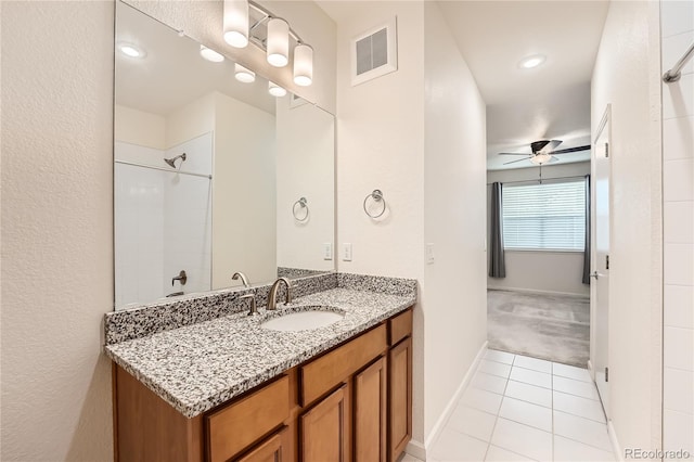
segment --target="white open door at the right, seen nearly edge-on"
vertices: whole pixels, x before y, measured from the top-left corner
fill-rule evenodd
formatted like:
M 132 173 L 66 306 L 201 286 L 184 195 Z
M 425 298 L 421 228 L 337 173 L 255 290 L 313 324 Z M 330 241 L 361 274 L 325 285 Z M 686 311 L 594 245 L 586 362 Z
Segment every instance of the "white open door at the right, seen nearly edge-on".
M 591 330 L 595 336 L 595 351 L 593 359 L 595 371 L 595 384 L 600 399 L 603 401 L 605 414 L 608 415 L 609 387 L 609 351 L 608 323 L 609 323 L 609 106 L 597 129 L 593 143 L 593 236 L 592 240 L 592 281 L 591 306 L 594 308 Z

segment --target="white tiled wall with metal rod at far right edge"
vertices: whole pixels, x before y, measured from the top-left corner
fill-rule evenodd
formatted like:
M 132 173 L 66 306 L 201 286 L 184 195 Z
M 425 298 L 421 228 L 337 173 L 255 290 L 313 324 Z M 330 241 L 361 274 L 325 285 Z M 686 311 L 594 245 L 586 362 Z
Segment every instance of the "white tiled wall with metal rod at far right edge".
M 694 41 L 694 2 L 663 1 L 663 72 Z M 663 84 L 663 447 L 694 453 L 694 61 Z

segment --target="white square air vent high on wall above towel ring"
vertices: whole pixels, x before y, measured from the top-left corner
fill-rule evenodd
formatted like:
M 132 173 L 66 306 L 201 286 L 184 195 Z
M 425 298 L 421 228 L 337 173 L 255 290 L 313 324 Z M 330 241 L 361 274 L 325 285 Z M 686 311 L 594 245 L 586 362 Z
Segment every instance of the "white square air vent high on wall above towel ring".
M 351 42 L 351 85 L 398 69 L 396 18 L 355 37 Z

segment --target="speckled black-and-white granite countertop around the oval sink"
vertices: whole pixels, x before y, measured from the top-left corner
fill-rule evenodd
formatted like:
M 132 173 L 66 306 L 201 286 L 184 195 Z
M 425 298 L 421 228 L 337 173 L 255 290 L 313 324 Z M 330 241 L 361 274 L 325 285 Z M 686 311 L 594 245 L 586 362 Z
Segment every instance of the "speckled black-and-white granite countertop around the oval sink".
M 297 298 L 282 310 L 309 306 L 344 311 L 340 321 L 311 331 L 278 332 L 260 323 L 278 311 L 259 309 L 105 346 L 106 355 L 187 418 L 194 418 L 414 305 L 415 295 L 332 288 Z

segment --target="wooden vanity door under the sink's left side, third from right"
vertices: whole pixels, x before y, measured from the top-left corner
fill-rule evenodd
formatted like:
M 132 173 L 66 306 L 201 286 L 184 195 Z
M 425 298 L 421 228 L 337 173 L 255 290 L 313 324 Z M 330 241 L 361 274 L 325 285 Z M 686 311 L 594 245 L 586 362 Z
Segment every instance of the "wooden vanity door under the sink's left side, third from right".
M 301 415 L 301 461 L 346 461 L 348 420 L 345 388 L 343 385 Z

